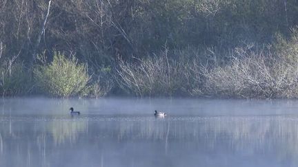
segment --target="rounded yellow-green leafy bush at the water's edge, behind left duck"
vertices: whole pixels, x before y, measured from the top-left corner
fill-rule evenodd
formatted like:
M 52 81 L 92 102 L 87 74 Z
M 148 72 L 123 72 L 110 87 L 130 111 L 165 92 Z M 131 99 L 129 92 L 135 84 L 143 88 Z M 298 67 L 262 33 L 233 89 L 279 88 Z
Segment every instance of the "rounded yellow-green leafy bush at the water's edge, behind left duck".
M 60 97 L 78 96 L 86 89 L 90 78 L 86 65 L 79 64 L 74 56 L 66 58 L 60 52 L 54 54 L 50 65 L 37 67 L 34 76 L 41 91 Z

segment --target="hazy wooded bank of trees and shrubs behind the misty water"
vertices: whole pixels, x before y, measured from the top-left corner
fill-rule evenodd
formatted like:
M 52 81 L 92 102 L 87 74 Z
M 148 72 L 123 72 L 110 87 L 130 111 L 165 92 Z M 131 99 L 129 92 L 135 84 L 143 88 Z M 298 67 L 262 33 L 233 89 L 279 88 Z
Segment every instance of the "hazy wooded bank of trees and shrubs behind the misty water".
M 294 0 L 0 0 L 0 93 L 296 98 L 297 22 Z

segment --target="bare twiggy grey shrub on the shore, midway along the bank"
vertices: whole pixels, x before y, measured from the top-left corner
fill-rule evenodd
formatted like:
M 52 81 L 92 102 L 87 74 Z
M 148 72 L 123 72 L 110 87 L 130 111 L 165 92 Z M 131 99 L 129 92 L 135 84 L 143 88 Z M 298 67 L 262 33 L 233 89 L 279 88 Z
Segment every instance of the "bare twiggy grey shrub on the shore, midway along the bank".
M 183 63 L 163 56 L 154 56 L 137 63 L 119 60 L 119 86 L 137 96 L 172 96 L 183 84 Z

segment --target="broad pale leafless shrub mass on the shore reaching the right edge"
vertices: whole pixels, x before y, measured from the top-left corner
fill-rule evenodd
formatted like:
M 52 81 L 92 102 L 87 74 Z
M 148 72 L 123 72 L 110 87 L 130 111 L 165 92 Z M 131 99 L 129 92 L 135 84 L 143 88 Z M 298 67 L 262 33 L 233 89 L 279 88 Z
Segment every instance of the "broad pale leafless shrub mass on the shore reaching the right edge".
M 298 69 L 263 52 L 237 50 L 228 65 L 201 70 L 204 93 L 231 98 L 296 98 Z

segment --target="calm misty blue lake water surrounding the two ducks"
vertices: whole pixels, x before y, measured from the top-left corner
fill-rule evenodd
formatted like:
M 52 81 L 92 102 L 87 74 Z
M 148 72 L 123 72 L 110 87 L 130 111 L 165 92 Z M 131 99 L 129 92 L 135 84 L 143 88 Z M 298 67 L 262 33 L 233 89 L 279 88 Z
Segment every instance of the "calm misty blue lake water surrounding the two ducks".
M 2 99 L 0 166 L 298 166 L 297 113 L 296 100 Z

